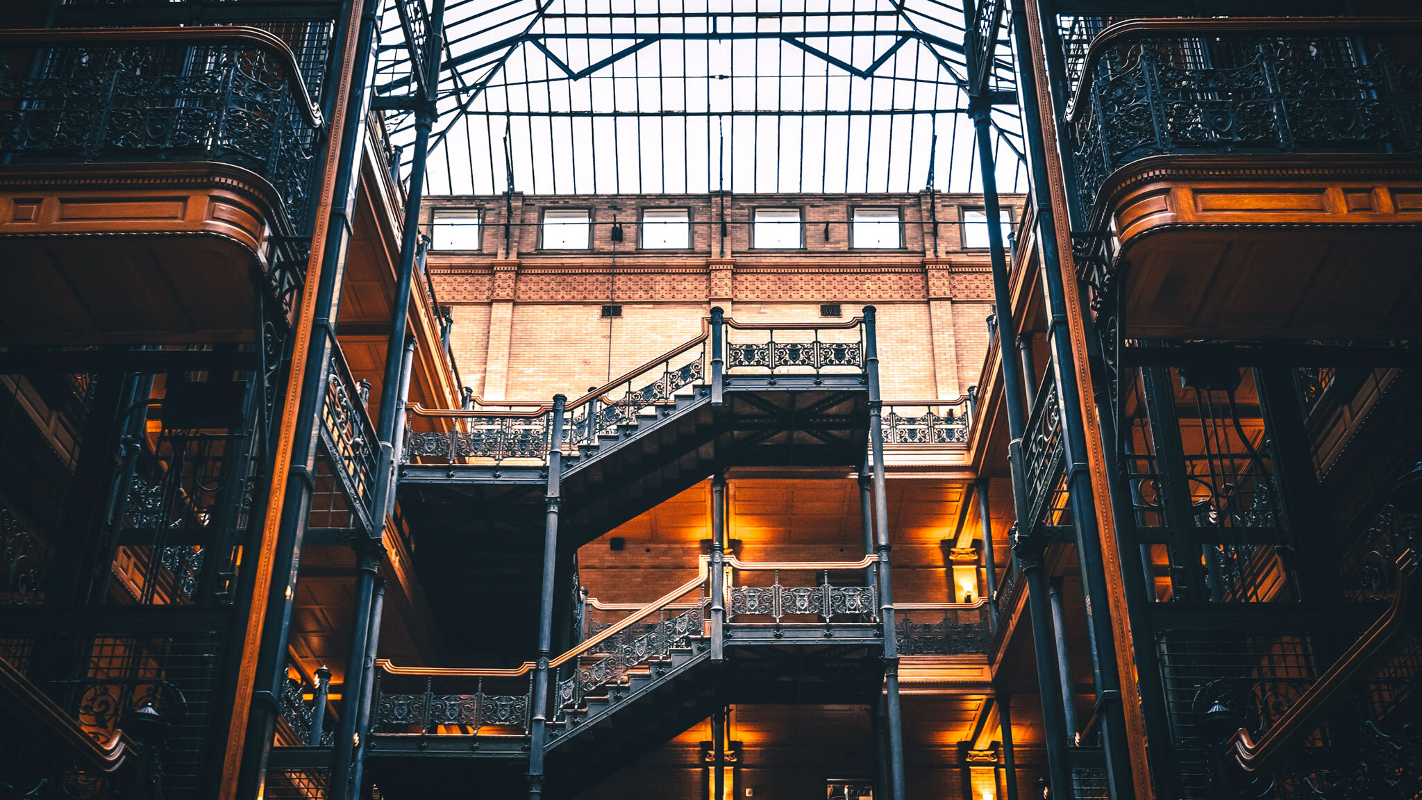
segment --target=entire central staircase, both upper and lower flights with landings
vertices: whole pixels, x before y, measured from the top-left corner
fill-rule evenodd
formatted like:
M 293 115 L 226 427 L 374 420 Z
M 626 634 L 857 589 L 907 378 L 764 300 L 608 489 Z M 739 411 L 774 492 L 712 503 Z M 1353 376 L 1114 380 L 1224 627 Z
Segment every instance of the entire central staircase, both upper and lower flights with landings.
M 441 609 L 438 623 L 447 641 L 468 648 L 454 658 L 489 663 L 533 651 L 513 639 L 538 626 L 530 589 L 550 470 L 559 473 L 566 568 L 579 545 L 717 470 L 857 468 L 867 450 L 872 353 L 872 316 L 867 325 L 752 326 L 717 310 L 700 336 L 566 404 L 559 397 L 414 407 L 400 501 L 418 541 L 415 571 L 429 605 Z M 471 588 L 474 559 L 509 577 L 486 578 L 498 569 L 485 568 Z M 552 659 L 546 796 L 573 796 L 729 702 L 877 696 L 883 633 L 873 589 L 862 585 L 872 559 L 728 561 L 752 581 L 769 572 L 774 581 L 729 586 L 725 611 L 711 612 L 702 559 L 694 579 Z M 830 572 L 849 575 L 832 584 Z M 782 585 L 782 574 L 811 579 Z M 724 641 L 720 652 L 714 632 Z M 532 662 L 508 669 L 381 662 L 371 779 L 392 800 L 471 786 L 485 796 L 522 796 L 535 672 Z

